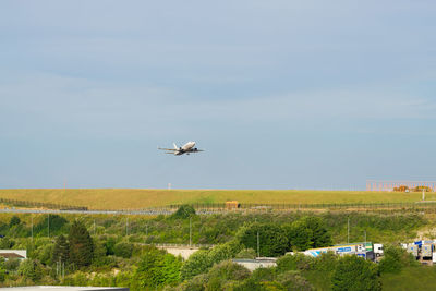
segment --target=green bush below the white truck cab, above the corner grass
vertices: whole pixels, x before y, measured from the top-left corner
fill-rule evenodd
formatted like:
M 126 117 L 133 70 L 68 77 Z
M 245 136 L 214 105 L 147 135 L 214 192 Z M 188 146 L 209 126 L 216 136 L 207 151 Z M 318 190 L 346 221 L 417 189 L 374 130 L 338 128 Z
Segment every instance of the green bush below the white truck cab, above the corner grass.
M 417 266 L 419 263 L 412 254 L 408 253 L 400 246 L 386 245 L 384 256 L 378 265 L 382 274 L 398 274 L 404 267 Z

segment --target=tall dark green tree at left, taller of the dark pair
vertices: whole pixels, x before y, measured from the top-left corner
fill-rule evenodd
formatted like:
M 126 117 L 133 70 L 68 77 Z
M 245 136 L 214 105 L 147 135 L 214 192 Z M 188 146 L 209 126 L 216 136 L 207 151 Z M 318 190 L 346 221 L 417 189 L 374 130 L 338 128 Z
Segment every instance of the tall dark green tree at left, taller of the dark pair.
M 78 220 L 71 226 L 69 241 L 70 262 L 76 267 L 89 266 L 94 255 L 93 239 L 86 227 Z

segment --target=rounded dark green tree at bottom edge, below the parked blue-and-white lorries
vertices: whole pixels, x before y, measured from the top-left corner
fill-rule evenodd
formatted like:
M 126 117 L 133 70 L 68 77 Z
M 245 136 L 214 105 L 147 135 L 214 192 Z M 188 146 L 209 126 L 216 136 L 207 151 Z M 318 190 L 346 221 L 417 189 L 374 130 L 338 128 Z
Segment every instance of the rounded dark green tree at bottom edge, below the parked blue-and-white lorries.
M 379 291 L 382 282 L 378 267 L 354 255 L 341 257 L 331 278 L 331 289 L 334 291 Z

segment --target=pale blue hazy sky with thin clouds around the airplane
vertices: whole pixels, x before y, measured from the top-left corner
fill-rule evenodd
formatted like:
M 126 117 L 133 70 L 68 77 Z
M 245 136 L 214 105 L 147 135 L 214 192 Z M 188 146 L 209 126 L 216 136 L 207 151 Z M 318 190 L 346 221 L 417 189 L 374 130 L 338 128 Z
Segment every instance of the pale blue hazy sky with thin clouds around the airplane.
M 433 0 L 0 4 L 0 189 L 435 181 Z M 205 149 L 165 155 L 195 141 Z

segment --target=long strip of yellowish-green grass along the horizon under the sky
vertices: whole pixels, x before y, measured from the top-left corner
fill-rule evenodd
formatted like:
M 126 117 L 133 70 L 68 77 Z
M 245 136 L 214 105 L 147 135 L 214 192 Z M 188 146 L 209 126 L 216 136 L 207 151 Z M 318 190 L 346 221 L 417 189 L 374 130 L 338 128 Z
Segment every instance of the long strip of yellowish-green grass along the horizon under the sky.
M 311 190 L 141 190 L 32 189 L 0 190 L 0 198 L 87 206 L 89 209 L 135 209 L 183 203 L 344 204 L 417 202 L 421 193 Z M 427 193 L 436 201 L 436 193 Z

